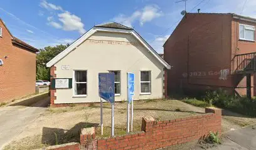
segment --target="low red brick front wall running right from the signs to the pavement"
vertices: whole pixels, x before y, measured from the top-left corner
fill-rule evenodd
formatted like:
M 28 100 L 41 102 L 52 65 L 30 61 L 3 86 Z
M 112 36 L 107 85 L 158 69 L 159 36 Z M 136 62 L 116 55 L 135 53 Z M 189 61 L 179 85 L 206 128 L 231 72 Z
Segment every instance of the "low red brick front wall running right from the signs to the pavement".
M 198 140 L 209 131 L 221 132 L 221 109 L 206 108 L 201 116 L 169 121 L 142 119 L 143 133 L 99 139 L 97 149 L 157 149 Z

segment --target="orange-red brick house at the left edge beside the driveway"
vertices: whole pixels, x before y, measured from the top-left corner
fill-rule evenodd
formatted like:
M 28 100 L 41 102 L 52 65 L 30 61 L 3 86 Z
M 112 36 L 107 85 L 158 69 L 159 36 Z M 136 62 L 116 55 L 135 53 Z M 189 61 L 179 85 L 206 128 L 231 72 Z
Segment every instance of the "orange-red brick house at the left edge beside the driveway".
M 0 103 L 35 93 L 36 52 L 0 19 Z

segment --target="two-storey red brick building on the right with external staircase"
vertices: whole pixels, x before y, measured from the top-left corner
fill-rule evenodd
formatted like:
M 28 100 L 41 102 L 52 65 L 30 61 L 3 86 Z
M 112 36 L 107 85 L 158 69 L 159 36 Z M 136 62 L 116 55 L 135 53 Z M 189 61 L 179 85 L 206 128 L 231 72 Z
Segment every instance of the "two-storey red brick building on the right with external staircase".
M 255 18 L 238 14 L 185 14 L 164 44 L 173 66 L 168 93 L 223 88 L 256 96 L 255 26 Z

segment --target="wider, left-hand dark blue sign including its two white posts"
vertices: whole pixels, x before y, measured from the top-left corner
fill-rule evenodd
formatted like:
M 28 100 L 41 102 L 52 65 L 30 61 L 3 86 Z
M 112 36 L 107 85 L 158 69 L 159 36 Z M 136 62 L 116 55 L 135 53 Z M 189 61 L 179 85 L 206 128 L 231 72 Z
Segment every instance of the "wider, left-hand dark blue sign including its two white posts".
M 100 128 L 103 134 L 103 116 L 102 116 L 102 99 L 111 103 L 112 106 L 112 131 L 111 136 L 114 136 L 114 103 L 115 103 L 115 74 L 114 73 L 99 73 L 99 96 L 100 96 Z

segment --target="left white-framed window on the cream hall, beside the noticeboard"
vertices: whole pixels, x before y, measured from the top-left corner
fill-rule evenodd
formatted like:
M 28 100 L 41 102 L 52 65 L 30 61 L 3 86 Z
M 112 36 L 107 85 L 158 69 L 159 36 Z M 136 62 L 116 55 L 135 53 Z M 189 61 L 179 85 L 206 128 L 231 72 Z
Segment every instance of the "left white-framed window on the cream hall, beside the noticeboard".
M 87 96 L 87 71 L 86 70 L 73 71 L 73 96 L 74 97 Z

